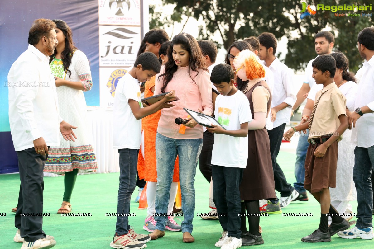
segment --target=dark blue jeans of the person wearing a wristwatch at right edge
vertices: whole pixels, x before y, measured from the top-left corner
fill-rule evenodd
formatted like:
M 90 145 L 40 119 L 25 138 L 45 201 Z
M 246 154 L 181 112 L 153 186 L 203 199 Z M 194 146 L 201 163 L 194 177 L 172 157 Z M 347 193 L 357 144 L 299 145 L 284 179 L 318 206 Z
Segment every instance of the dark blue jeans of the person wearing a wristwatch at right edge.
M 371 186 L 371 171 L 374 165 L 374 146 L 355 148 L 355 166 L 353 181 L 357 193 L 357 224 L 358 228 L 373 226 L 373 187 Z

